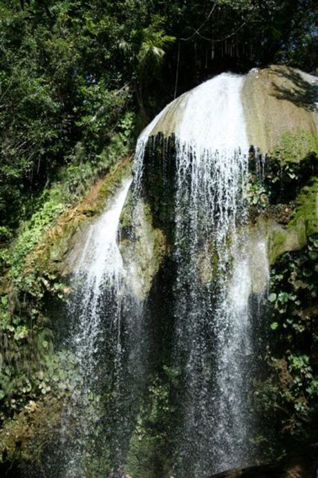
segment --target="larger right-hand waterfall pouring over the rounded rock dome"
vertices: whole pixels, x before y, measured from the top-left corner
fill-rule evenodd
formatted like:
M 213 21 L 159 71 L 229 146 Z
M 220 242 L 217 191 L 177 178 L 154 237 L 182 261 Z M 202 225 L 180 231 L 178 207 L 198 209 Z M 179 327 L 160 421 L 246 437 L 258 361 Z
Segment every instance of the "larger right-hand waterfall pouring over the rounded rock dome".
M 243 76 L 223 73 L 172 102 L 142 132 L 135 154 L 135 191 L 142 194 L 147 141 L 154 131 L 165 130 L 176 102 L 182 105 L 173 131 L 171 246 L 176 268 L 174 366 L 184 384 L 174 470 L 180 477 L 207 477 L 254 458 L 248 396 L 256 354 L 255 264 L 243 195 L 249 162 L 243 81 Z M 266 283 L 264 238 L 257 247 Z M 255 294 L 259 301 L 261 291 Z

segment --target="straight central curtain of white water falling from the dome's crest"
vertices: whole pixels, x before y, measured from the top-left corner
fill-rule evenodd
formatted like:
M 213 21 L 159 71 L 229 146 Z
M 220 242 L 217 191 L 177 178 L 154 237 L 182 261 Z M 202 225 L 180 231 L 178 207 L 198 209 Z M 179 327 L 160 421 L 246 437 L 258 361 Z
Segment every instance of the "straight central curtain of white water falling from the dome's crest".
M 242 78 L 222 75 L 195 89 L 187 100 L 177 138 L 176 354 L 177 358 L 183 355 L 179 360 L 187 382 L 183 466 L 190 467 L 194 476 L 215 468 L 215 430 L 226 428 L 229 419 L 216 410 L 213 398 L 225 384 L 218 382 L 212 364 L 219 365 L 225 346 L 223 330 L 232 319 L 223 310 L 232 258 L 226 241 L 237 241 L 236 215 L 242 206 L 241 186 L 248 166 L 241 84 Z M 216 270 L 212 269 L 213 255 Z M 212 319 L 218 309 L 218 319 Z M 241 337 L 230 337 L 237 338 Z M 234 442 L 232 437 L 235 447 Z

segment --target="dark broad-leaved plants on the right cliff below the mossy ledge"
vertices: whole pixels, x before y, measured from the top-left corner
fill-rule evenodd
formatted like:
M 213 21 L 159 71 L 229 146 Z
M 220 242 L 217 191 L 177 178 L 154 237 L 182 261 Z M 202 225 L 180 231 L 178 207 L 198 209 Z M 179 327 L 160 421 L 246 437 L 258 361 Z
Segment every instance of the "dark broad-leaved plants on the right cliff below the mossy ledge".
M 273 346 L 267 360 L 272 373 L 263 405 L 287 439 L 315 440 L 318 427 L 317 259 L 316 234 L 303 250 L 283 254 L 271 272 Z

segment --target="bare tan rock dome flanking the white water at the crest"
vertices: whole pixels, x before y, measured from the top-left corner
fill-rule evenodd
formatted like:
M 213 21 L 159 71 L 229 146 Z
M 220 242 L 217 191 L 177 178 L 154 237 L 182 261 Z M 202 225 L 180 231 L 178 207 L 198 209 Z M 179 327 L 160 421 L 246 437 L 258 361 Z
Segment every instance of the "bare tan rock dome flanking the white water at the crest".
M 189 91 L 167 105 L 149 136 L 179 134 Z M 301 154 L 318 148 L 318 78 L 297 69 L 272 66 L 245 76 L 241 92 L 251 145 L 271 154 L 279 145 L 298 139 Z M 300 140 L 299 140 L 300 138 Z M 299 161 L 299 154 L 295 160 Z M 288 159 L 288 158 L 286 158 Z M 289 158 L 292 159 L 292 158 Z

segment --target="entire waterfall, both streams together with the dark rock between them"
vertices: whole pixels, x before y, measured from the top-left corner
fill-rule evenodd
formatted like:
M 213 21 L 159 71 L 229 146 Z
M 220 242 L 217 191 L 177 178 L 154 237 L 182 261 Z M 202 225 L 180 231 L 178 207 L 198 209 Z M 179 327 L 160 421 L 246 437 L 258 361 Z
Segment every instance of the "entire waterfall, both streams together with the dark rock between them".
M 268 261 L 263 234 L 247 227 L 243 82 L 223 73 L 203 83 L 140 135 L 124 263 L 118 224 L 131 179 L 88 228 L 68 308 L 65 345 L 79 377 L 57 478 L 104 478 L 111 468 L 122 477 L 129 456 L 140 456 L 149 385 L 167 369 L 178 419 L 158 435 L 167 436 L 169 473 L 205 478 L 254 460 L 248 397 Z M 167 118 L 174 128 L 163 139 Z M 166 258 L 157 267 L 158 245 Z

